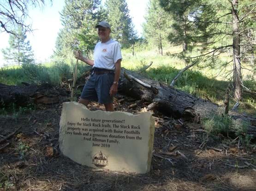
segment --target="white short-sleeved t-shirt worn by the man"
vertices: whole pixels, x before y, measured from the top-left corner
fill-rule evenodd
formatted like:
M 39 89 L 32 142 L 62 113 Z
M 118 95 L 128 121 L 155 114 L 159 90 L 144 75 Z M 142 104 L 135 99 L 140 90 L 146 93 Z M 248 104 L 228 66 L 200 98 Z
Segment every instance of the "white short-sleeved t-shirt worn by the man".
M 122 59 L 120 45 L 110 39 L 105 43 L 98 42 L 94 48 L 94 66 L 108 70 L 115 69 L 115 63 Z

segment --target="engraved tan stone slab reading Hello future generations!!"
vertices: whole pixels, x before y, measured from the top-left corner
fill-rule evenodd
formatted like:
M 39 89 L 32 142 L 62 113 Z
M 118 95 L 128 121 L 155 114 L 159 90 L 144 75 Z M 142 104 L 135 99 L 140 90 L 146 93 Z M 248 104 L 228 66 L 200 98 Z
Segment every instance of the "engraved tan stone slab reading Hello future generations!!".
M 150 170 L 154 132 L 150 112 L 89 111 L 77 102 L 65 102 L 60 150 L 82 165 L 143 174 Z

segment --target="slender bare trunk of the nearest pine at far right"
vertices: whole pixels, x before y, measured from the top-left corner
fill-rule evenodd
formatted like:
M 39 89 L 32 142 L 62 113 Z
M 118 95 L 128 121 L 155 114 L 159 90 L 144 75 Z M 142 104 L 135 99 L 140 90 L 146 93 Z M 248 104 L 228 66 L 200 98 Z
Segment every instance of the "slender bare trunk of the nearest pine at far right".
M 242 73 L 240 57 L 240 36 L 238 18 L 238 0 L 232 0 L 232 28 L 233 28 L 233 96 L 236 101 L 242 98 Z

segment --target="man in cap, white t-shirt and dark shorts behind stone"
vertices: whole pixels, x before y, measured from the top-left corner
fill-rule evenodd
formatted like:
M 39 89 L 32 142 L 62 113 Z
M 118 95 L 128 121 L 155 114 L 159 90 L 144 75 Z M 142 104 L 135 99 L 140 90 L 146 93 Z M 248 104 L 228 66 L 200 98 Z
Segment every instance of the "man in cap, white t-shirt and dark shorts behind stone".
M 121 71 L 121 49 L 117 41 L 110 39 L 111 28 L 107 22 L 101 21 L 96 28 L 101 41 L 95 45 L 94 60 L 79 51 L 75 54 L 77 59 L 93 67 L 78 103 L 87 107 L 90 101 L 99 101 L 106 111 L 113 112 L 113 96 L 117 93 Z

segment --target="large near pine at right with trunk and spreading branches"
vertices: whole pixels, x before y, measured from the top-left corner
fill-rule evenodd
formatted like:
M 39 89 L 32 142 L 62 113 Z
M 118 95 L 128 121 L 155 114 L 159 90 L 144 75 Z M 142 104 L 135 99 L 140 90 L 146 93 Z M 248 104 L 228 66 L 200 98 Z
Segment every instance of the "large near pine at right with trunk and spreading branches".
M 192 46 L 201 49 L 200 54 L 196 56 L 188 56 L 182 53 L 181 56 L 187 61 L 200 59 L 201 65 L 226 67 L 229 63 L 233 65 L 233 96 L 234 99 L 240 101 L 242 98 L 242 71 L 241 62 L 245 52 L 241 52 L 241 48 L 246 45 L 250 47 L 250 53 L 255 52 L 255 43 L 253 43 L 253 22 L 255 22 L 256 3 L 252 0 L 160 0 L 161 6 L 166 11 L 170 11 L 176 22 L 176 28 L 183 28 L 176 33 L 171 41 L 184 39 L 186 42 L 193 42 Z M 180 12 L 181 10 L 181 12 Z M 183 11 L 184 10 L 184 11 Z M 186 17 L 181 17 L 183 12 L 187 12 Z M 182 14 L 180 14 L 182 13 Z M 187 33 L 187 25 L 190 24 L 191 33 Z M 249 31 L 249 32 L 248 32 Z M 248 41 L 245 36 L 250 34 L 252 39 Z M 172 35 L 170 36 L 172 37 Z M 243 37 L 243 38 L 242 38 Z M 185 43 L 186 43 L 185 42 Z M 254 41 L 255 42 L 255 41 Z M 220 65 L 220 54 L 223 52 L 232 52 L 230 61 L 223 62 Z M 253 55 L 253 54 L 252 54 Z M 218 63 L 219 62 L 219 63 Z

